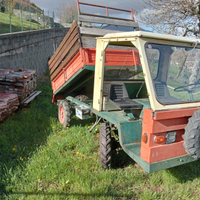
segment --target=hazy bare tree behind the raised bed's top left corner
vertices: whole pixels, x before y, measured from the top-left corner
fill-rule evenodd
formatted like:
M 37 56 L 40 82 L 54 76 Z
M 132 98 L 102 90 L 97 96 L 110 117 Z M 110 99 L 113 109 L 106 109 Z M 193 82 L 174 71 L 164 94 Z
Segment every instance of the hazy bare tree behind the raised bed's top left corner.
M 76 4 L 74 2 L 61 3 L 57 8 L 56 15 L 61 23 L 72 23 L 77 20 L 78 16 Z

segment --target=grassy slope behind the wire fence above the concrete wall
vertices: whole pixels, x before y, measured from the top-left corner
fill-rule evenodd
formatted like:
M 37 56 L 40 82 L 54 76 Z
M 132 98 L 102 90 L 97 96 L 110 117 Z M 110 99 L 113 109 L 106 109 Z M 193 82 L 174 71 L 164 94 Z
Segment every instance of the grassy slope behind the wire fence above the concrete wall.
M 12 32 L 22 31 L 21 19 L 15 15 L 11 16 Z M 26 21 L 23 19 L 23 31 L 44 29 L 44 26 L 38 25 L 37 23 Z M 9 14 L 0 12 L 0 34 L 10 33 L 10 21 Z

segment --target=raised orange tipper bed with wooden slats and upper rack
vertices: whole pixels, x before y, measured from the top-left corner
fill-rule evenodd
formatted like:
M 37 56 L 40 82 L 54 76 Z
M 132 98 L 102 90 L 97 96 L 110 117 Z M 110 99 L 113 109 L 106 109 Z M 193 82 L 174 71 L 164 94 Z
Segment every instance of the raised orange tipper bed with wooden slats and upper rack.
M 80 4 L 106 9 L 107 16 L 81 13 Z M 54 55 L 49 60 L 50 78 L 53 90 L 53 103 L 66 96 L 86 95 L 92 99 L 95 70 L 96 37 L 108 33 L 120 32 L 93 28 L 91 23 L 102 23 L 111 26 L 125 26 L 132 30 L 138 28 L 134 22 L 132 9 L 120 10 L 110 7 L 91 5 L 77 1 L 79 20 L 75 21 Z M 132 19 L 114 18 L 108 10 L 129 12 Z M 91 22 L 91 23 L 89 23 Z M 83 23 L 86 23 L 84 27 Z M 105 27 L 104 27 L 105 28 Z M 141 69 L 138 52 L 123 47 L 111 47 L 106 51 L 106 66 L 132 66 L 136 73 Z

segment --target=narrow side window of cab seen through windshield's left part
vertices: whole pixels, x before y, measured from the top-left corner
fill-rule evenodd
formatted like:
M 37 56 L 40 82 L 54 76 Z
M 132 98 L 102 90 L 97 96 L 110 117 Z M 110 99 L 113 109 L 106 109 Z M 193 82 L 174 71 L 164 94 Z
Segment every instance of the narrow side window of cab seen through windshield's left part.
M 158 49 L 152 49 L 152 46 L 148 44 L 146 47 L 146 54 L 147 54 L 147 59 L 149 61 L 151 76 L 153 79 L 155 79 L 158 74 L 160 52 Z

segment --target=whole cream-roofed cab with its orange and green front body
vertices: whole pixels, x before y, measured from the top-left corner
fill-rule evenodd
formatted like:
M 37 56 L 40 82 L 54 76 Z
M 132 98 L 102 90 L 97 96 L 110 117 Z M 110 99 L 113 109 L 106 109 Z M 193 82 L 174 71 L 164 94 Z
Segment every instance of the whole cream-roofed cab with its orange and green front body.
M 107 55 L 114 46 L 130 52 L 107 66 L 117 60 Z M 143 31 L 97 38 L 94 113 L 116 127 L 124 151 L 147 173 L 200 157 L 200 145 L 188 142 L 191 127 L 198 129 L 188 119 L 200 116 L 199 47 L 198 39 Z

